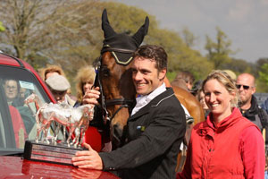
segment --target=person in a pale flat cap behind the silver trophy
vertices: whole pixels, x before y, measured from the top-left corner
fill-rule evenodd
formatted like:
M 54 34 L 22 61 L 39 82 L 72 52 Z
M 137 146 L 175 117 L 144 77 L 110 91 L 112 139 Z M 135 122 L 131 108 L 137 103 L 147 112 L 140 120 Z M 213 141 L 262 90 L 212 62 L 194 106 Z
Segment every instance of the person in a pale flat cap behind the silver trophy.
M 58 103 L 67 104 L 71 107 L 74 106 L 75 101 L 67 95 L 67 90 L 71 85 L 63 75 L 52 75 L 46 79 L 46 85 L 51 90 L 54 98 Z

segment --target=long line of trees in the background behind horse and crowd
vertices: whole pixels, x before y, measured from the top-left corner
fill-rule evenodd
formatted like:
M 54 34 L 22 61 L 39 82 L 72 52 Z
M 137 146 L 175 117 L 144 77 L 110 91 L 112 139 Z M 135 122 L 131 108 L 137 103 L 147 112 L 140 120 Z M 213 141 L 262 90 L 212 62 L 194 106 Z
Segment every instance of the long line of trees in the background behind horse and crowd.
M 208 54 L 203 56 L 192 48 L 197 38 L 187 28 L 180 37 L 176 31 L 160 29 L 155 16 L 142 9 L 97 0 L 2 0 L 0 20 L 5 30 L 0 33 L 0 48 L 36 69 L 61 64 L 73 84 L 78 69 L 92 64 L 100 55 L 104 40 L 101 14 L 105 8 L 111 26 L 118 33 L 133 35 L 145 17 L 149 17 L 144 44 L 160 45 L 166 50 L 171 78 L 176 72 L 189 71 L 200 80 L 214 68 L 252 72 L 251 64 L 230 58 L 234 53 L 231 41 L 220 28 L 216 29 L 215 40 L 206 37 Z

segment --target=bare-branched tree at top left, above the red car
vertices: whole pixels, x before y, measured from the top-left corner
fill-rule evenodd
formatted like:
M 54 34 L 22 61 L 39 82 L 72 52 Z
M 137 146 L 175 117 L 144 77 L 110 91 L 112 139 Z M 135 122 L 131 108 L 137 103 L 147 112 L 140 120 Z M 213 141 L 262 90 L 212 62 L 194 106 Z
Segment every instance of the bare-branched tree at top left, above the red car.
M 3 20 L 4 33 L 1 42 L 6 51 L 23 58 L 30 64 L 28 55 L 38 48 L 50 46 L 50 41 L 44 40 L 49 34 L 47 27 L 56 7 L 62 3 L 52 0 L 2 0 L 0 18 Z M 48 11 L 50 10 L 50 11 Z M 13 12 L 13 13 L 10 13 Z

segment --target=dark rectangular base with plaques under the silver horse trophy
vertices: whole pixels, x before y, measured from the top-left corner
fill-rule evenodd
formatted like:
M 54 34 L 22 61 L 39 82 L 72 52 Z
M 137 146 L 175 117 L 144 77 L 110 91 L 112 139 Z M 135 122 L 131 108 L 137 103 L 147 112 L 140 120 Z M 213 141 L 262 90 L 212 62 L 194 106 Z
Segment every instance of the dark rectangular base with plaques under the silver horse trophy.
M 67 147 L 67 144 L 46 144 L 41 141 L 25 141 L 24 158 L 72 166 L 71 158 L 77 151 L 85 149 Z

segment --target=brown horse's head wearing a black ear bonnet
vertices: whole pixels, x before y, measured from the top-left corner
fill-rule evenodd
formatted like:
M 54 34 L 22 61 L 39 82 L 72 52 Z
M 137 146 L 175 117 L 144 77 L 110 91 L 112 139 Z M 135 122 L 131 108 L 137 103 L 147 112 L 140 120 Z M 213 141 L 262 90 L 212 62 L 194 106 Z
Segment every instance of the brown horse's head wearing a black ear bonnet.
M 131 79 L 130 62 L 132 53 L 142 43 L 147 35 L 149 19 L 146 18 L 143 26 L 133 35 L 117 34 L 110 26 L 106 10 L 102 15 L 102 29 L 105 40 L 101 51 L 99 64 L 99 81 L 102 98 L 102 107 L 111 120 L 111 137 L 113 147 L 121 142 L 121 136 L 130 108 L 133 107 L 136 90 Z

